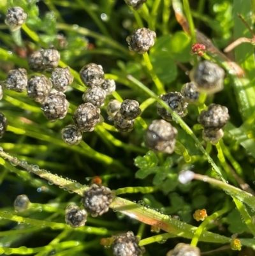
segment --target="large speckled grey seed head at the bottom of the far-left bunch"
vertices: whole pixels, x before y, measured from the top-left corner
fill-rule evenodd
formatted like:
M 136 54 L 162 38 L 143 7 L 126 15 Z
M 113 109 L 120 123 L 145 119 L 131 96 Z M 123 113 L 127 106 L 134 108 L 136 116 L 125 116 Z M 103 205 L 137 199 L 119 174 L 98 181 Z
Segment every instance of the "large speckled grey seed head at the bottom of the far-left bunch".
M 64 93 L 50 93 L 41 104 L 43 114 L 50 122 L 55 122 L 57 119 L 63 119 L 68 113 L 69 102 L 66 100 Z

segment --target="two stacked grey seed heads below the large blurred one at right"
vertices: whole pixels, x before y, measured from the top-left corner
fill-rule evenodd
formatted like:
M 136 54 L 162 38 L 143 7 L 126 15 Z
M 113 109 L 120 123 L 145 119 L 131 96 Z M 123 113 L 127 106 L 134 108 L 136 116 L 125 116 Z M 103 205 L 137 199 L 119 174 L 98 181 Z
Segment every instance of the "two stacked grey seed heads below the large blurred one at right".
M 217 143 L 224 135 L 223 128 L 230 115 L 228 109 L 219 104 L 210 104 L 207 110 L 203 110 L 198 117 L 198 123 L 203 126 L 203 139 L 212 143 Z

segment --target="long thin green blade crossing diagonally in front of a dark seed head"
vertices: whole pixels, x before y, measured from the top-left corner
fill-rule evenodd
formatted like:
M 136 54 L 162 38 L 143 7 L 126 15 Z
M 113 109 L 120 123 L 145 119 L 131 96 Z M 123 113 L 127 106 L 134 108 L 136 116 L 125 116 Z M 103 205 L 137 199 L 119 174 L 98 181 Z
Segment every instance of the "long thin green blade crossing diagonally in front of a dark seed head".
M 204 147 L 201 145 L 196 135 L 194 135 L 194 132 L 191 130 L 191 128 L 189 128 L 189 126 L 187 126 L 187 124 L 182 120 L 182 118 L 175 111 L 173 111 L 173 109 L 171 109 L 171 107 L 166 102 L 161 100 L 161 98 L 159 98 L 153 91 L 151 91 L 144 84 L 142 84 L 142 82 L 138 81 L 137 79 L 135 79 L 135 77 L 132 77 L 131 75 L 128 75 L 127 77 L 129 80 L 134 82 L 138 87 L 140 87 L 143 91 L 145 91 L 145 93 L 149 94 L 151 98 L 154 98 L 157 102 L 159 102 L 159 104 L 161 104 L 166 110 L 168 110 L 168 112 L 170 112 L 171 116 L 173 117 L 173 120 L 176 123 L 179 123 L 182 129 L 184 129 L 184 131 L 186 131 L 187 134 L 189 134 L 193 138 L 193 140 L 196 142 L 196 146 L 202 151 L 203 154 L 205 154 L 208 162 L 212 165 L 215 172 L 217 172 L 217 174 L 221 177 L 222 181 L 226 182 L 226 180 L 221 174 L 221 171 L 214 163 L 214 160 L 212 160 L 207 151 L 205 151 Z

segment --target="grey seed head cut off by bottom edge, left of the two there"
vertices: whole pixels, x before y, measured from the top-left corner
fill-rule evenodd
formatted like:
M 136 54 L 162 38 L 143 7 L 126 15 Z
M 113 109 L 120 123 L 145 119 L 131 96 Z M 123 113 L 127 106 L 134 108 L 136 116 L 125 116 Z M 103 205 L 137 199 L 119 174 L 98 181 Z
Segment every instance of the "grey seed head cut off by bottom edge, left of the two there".
M 132 231 L 126 234 L 119 234 L 112 243 L 114 256 L 141 256 L 145 248 L 138 245 L 139 239 Z

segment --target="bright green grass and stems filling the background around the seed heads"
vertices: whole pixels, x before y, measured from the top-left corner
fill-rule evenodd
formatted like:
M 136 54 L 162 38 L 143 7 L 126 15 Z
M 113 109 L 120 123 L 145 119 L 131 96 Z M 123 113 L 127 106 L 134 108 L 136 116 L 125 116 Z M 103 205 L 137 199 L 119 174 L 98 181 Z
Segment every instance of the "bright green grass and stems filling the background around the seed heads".
M 11 6 L 29 14 L 15 33 L 4 24 Z M 244 43 L 228 55 L 222 53 L 231 41 L 253 36 L 237 13 L 252 29 L 252 0 L 147 0 L 137 11 L 124 0 L 0 1 L 0 83 L 13 68 L 35 75 L 25 51 L 50 45 L 61 54 L 59 66 L 69 66 L 75 78 L 66 92 L 68 115 L 55 123 L 47 121 L 40 104 L 26 93 L 4 89 L 0 111 L 8 129 L 0 140 L 1 254 L 112 255 L 100 239 L 129 230 L 140 237 L 145 256 L 166 255 L 177 243 L 213 251 L 212 255 L 219 248 L 222 255 L 238 255 L 235 234 L 242 248 L 255 250 L 254 46 Z M 143 26 L 156 31 L 157 38 L 141 56 L 128 50 L 126 37 Z M 64 36 L 65 47 L 57 34 Z M 191 55 L 196 42 L 207 46 L 201 57 Z M 203 95 L 200 105 L 190 104 L 181 118 L 158 96 L 180 91 L 189 82 L 187 72 L 203 59 L 224 68 L 224 89 Z M 79 71 L 88 63 L 101 64 L 117 90 L 101 108 L 105 122 L 84 133 L 79 145 L 68 146 L 61 130 L 73 123 L 72 115 L 82 103 L 86 87 Z M 242 75 L 233 72 L 237 65 Z M 132 132 L 119 133 L 108 120 L 106 105 L 112 98 L 140 103 L 142 115 Z M 161 119 L 156 103 L 172 114 L 171 124 L 178 130 L 175 153 L 170 155 L 145 146 L 147 126 Z M 224 105 L 230 113 L 224 137 L 216 145 L 202 139 L 197 121 L 199 111 L 210 103 Z M 181 184 L 182 170 L 192 170 L 194 180 Z M 116 197 L 108 213 L 71 229 L 64 221 L 65 208 L 81 205 L 94 176 L 101 177 Z M 20 194 L 31 201 L 23 213 L 13 207 Z M 193 218 L 197 209 L 207 210 L 202 223 Z M 159 234 L 150 226 L 160 229 Z

